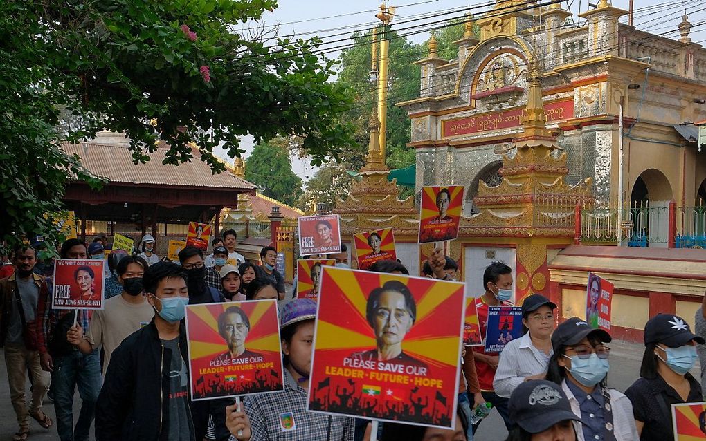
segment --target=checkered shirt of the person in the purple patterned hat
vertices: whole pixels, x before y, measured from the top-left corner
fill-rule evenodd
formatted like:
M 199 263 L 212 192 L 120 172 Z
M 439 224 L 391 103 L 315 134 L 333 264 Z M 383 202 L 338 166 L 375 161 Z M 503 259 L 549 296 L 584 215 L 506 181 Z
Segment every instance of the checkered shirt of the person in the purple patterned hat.
M 283 392 L 248 395 L 244 408 L 253 433 L 250 441 L 353 441 L 354 419 L 306 411 L 306 390 L 286 369 Z M 237 440 L 231 436 L 229 441 Z

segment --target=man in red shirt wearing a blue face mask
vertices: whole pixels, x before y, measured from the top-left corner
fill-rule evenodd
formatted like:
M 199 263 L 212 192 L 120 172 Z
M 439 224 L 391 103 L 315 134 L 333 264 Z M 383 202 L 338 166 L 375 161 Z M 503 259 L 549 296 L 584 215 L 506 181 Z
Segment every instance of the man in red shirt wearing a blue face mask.
M 486 334 L 489 306 L 513 306 L 513 303 L 510 302 L 510 298 L 513 296 L 513 270 L 503 262 L 491 263 L 483 273 L 483 288 L 484 294 L 476 301 L 481 335 Z M 499 397 L 493 388 L 493 378 L 498 370 L 500 357 L 498 354 L 486 354 L 483 346 L 477 346 L 474 348 L 473 358 L 483 398 L 486 402 L 492 403 L 495 409 L 498 409 L 498 413 L 505 422 L 505 427 L 510 430 L 508 399 Z M 485 420 L 483 419 L 473 426 L 474 433 L 482 421 Z

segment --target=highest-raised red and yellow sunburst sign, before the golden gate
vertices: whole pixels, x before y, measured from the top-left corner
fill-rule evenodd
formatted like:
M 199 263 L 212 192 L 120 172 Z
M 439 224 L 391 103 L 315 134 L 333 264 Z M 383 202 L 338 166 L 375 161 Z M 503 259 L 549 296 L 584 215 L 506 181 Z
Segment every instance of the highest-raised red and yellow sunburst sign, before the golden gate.
M 463 186 L 422 188 L 419 243 L 455 239 L 462 208 Z

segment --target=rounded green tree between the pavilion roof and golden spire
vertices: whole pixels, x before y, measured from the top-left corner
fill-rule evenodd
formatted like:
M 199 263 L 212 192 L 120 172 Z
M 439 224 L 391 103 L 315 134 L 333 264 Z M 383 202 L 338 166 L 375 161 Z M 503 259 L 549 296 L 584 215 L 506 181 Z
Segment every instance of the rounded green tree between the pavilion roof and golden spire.
M 287 205 L 294 205 L 301 197 L 301 179 L 292 171 L 285 138 L 255 146 L 248 157 L 245 179 L 260 187 L 263 195 Z

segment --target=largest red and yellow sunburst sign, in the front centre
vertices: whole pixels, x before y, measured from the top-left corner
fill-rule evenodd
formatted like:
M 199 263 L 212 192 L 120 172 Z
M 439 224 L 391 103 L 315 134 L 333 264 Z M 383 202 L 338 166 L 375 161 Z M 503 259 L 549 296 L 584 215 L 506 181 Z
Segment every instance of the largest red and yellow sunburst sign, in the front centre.
M 463 290 L 456 282 L 324 267 L 309 410 L 450 428 Z

